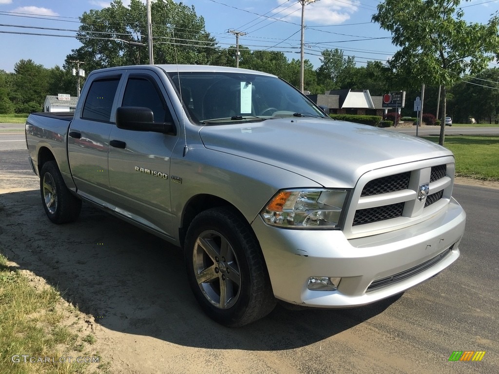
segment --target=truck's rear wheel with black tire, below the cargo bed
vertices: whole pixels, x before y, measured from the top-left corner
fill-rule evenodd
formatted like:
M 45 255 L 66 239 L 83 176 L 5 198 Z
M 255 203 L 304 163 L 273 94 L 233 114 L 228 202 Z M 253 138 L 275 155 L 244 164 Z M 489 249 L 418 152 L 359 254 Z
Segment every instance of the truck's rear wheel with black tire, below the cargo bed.
M 47 161 L 41 168 L 40 192 L 43 209 L 52 222 L 67 223 L 78 218 L 81 200 L 66 187 L 55 161 Z

